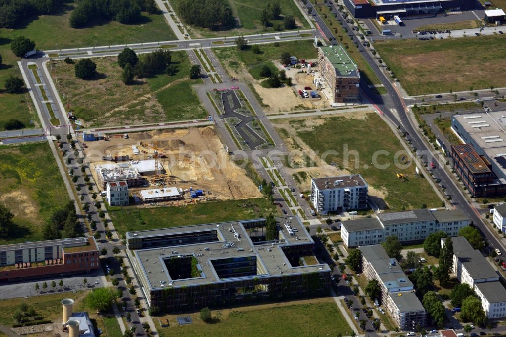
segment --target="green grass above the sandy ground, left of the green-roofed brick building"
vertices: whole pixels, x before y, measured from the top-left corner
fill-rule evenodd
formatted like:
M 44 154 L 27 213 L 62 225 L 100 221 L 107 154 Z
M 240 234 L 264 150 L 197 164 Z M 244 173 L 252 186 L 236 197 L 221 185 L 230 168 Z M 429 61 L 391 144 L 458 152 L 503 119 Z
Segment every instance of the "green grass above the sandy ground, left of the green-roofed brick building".
M 274 44 L 260 45 L 261 54 L 254 54 L 251 50 L 239 51 L 235 47 L 214 48 L 213 52 L 225 68 L 231 68 L 236 72 L 245 67 L 251 76 L 256 79 L 260 76 L 260 69 L 267 65 L 273 71 L 278 71 L 273 60 L 279 60 L 282 52 L 288 52 L 300 59 L 315 59 L 318 57 L 316 48 L 311 40 L 281 42 L 279 47 Z

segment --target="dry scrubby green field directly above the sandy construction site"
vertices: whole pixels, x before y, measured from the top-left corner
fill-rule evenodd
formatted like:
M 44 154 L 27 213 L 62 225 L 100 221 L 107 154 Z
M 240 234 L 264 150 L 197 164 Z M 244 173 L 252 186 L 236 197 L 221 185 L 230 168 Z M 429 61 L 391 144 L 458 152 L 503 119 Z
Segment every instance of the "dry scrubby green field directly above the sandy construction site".
M 141 55 L 142 58 L 142 55 Z M 190 80 L 186 52 L 172 54 L 178 72 L 137 79 L 133 85 L 121 81 L 116 57 L 95 58 L 99 75 L 94 80 L 75 78 L 74 65 L 52 61 L 51 75 L 58 78 L 59 93 L 65 105 L 83 120 L 84 127 L 188 120 L 207 116 Z M 63 94 L 65 99 L 63 99 Z

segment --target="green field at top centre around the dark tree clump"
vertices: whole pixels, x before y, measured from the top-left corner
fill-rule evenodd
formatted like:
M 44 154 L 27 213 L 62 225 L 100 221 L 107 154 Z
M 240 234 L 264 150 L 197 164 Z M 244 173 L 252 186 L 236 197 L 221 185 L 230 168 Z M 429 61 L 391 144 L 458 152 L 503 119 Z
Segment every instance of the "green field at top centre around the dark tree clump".
M 271 26 L 264 27 L 260 21 L 262 10 L 264 9 L 267 2 L 258 2 L 256 0 L 228 0 L 232 13 L 238 23 L 236 28 L 227 30 L 210 30 L 207 28 L 201 28 L 189 24 L 185 24 L 185 28 L 193 38 L 198 37 L 218 37 L 218 36 L 236 36 L 236 35 L 248 35 L 265 32 L 275 32 L 273 25 L 281 25 L 283 27 L 283 17 L 285 15 L 291 15 L 295 18 L 297 29 L 307 29 L 309 24 L 304 18 L 304 15 L 299 11 L 297 6 L 293 3 L 293 0 L 279 0 L 281 6 L 281 18 L 278 20 L 270 20 Z M 171 0 L 171 6 L 174 8 L 176 13 L 179 12 L 180 0 Z

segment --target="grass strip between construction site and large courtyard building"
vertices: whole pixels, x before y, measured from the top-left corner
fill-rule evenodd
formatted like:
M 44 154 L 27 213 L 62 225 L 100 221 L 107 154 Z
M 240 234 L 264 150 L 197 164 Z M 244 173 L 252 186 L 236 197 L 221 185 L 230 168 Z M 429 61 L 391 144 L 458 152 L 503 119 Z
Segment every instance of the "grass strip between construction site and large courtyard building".
M 109 208 L 114 227 L 120 234 L 134 230 L 190 226 L 279 215 L 278 207 L 265 198 L 195 203 L 189 206 Z

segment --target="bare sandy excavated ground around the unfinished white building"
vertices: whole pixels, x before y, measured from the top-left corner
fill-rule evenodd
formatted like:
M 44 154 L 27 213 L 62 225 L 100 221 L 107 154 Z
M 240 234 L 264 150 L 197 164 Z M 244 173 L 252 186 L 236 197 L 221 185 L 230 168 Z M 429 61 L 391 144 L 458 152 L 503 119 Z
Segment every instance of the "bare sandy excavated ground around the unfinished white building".
M 127 161 L 152 160 L 157 151 L 158 162 L 164 172 L 157 177 L 154 173 L 146 176 L 145 186 L 131 188 L 131 195 L 136 190 L 165 186 L 200 189 L 205 199 L 261 196 L 258 187 L 246 177 L 244 169 L 230 160 L 214 127 L 153 130 L 129 133 L 128 136 L 124 139 L 122 134 L 109 135 L 108 140 L 86 143 L 85 154 L 91 162 L 96 181 L 99 181 L 96 168 L 114 163 L 115 156 L 129 156 Z

